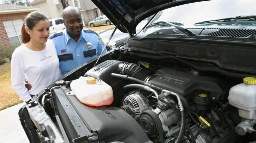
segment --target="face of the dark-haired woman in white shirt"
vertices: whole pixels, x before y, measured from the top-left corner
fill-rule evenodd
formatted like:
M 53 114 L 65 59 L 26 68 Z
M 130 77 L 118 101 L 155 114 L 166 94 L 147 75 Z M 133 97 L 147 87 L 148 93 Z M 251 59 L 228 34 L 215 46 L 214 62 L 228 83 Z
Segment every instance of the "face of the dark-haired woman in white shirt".
M 38 21 L 33 29 L 29 29 L 27 32 L 30 34 L 33 42 L 46 43 L 50 34 L 49 28 L 49 21 L 45 19 Z

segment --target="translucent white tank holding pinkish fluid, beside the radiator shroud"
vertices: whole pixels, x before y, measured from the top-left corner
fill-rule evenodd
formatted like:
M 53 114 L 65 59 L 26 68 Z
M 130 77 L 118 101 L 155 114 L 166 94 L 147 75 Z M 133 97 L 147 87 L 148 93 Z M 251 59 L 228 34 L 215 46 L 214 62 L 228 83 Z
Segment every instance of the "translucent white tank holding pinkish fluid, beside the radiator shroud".
M 80 77 L 70 83 L 70 88 L 80 102 L 88 106 L 110 105 L 114 100 L 112 88 L 93 77 Z

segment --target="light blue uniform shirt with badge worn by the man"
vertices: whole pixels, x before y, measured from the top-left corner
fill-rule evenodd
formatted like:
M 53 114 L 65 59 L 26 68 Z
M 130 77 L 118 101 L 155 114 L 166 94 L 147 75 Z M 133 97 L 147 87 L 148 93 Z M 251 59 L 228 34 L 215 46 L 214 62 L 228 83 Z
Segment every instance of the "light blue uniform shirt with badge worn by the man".
M 62 75 L 99 56 L 105 46 L 96 32 L 84 29 L 77 43 L 67 34 L 66 29 L 55 33 L 49 39 L 55 44 Z M 105 49 L 103 53 L 106 52 Z

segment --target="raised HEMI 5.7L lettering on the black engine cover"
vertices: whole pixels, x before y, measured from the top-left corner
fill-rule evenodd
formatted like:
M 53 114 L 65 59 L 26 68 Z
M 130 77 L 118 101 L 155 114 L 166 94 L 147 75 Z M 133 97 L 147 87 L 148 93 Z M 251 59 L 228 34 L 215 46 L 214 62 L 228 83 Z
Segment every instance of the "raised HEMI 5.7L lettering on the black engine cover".
M 169 75 L 169 74 L 160 75 L 160 76 L 158 76 L 158 79 L 160 79 L 162 81 L 170 82 L 173 84 L 177 84 L 177 85 L 180 85 L 183 87 L 185 87 L 187 84 L 189 84 L 191 82 L 190 79 L 177 77 L 177 76 Z

